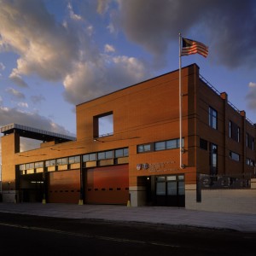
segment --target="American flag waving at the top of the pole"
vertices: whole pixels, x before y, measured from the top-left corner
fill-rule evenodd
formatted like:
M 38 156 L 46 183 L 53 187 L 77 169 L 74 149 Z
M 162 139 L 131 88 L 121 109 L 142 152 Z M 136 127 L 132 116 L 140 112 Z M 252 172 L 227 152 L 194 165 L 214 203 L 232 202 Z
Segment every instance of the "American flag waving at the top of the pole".
M 208 55 L 208 47 L 205 44 L 201 44 L 200 42 L 197 42 L 195 40 L 191 40 L 188 38 L 183 38 L 183 46 L 181 55 L 194 55 L 194 54 L 200 54 L 204 57 L 207 57 Z

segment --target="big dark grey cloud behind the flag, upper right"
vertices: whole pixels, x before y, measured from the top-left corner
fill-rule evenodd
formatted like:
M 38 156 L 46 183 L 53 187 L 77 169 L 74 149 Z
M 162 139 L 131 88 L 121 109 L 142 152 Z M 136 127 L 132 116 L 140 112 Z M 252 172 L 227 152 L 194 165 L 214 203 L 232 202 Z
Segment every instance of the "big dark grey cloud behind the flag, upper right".
M 256 61 L 255 1 L 119 0 L 112 22 L 127 38 L 163 58 L 170 43 L 184 37 L 201 40 L 226 67 L 251 67 Z M 242 20 L 242 21 L 241 21 Z M 192 29 L 194 32 L 192 32 Z M 194 34 L 195 33 L 195 34 Z M 176 56 L 175 56 L 176 57 Z

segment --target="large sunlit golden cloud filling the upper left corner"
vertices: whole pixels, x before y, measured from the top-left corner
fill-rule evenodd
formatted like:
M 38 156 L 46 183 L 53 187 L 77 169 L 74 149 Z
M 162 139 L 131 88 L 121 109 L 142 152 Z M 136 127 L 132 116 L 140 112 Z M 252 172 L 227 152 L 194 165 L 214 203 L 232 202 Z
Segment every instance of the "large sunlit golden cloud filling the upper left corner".
M 41 0 L 1 0 L 0 19 L 0 50 L 20 55 L 10 75 L 18 84 L 20 76 L 33 73 L 63 79 L 79 58 L 78 34 L 58 23 Z

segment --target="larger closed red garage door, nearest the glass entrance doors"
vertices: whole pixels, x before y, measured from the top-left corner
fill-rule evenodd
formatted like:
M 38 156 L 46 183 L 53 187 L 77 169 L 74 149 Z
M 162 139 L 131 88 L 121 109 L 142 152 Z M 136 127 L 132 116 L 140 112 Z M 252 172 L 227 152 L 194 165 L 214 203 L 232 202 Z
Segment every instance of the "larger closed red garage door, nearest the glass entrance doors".
M 126 204 L 129 200 L 128 165 L 88 169 L 86 180 L 86 203 Z

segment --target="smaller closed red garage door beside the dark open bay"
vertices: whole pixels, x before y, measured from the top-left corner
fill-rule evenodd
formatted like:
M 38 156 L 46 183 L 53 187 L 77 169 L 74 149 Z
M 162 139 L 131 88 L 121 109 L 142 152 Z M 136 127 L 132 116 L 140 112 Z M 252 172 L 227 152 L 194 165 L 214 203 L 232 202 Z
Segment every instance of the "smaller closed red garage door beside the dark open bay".
M 49 172 L 48 202 L 78 203 L 80 195 L 80 172 Z

